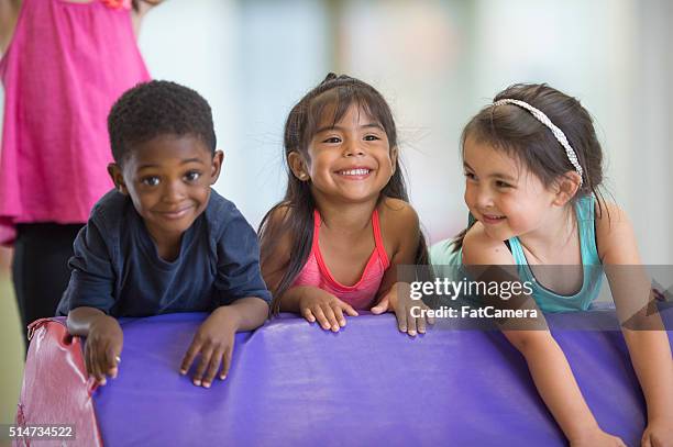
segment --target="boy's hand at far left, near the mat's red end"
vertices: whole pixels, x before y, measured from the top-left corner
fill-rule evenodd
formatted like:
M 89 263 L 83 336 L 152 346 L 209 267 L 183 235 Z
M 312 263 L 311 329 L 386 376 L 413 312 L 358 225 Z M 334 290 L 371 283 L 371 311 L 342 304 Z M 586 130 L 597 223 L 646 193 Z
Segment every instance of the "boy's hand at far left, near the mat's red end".
M 107 383 L 106 376 L 112 379 L 117 377 L 123 344 L 124 335 L 117 320 L 101 315 L 91 322 L 85 348 L 85 364 L 87 372 L 98 385 Z

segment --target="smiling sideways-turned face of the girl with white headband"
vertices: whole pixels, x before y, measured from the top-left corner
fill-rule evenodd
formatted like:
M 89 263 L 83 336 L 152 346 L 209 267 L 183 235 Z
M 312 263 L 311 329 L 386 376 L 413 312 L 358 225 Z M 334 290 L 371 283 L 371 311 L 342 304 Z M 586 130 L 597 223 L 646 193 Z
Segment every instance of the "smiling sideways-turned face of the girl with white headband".
M 486 234 L 507 241 L 542 227 L 558 194 L 517 159 L 487 143 L 466 138 L 465 203 Z

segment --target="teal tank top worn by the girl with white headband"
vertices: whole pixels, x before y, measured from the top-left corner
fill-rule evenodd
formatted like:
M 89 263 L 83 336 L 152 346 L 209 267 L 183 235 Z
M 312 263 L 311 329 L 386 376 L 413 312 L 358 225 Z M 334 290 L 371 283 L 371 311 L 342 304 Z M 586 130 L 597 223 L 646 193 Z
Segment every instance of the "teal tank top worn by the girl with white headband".
M 600 292 L 604 275 L 603 269 L 599 267 L 602 262 L 596 248 L 594 206 L 595 199 L 593 195 L 582 198 L 575 203 L 575 215 L 577 220 L 577 230 L 580 232 L 580 249 L 584 273 L 582 288 L 575 294 L 561 295 L 537 282 L 528 265 L 519 238 L 512 237 L 508 241 L 511 255 L 517 265 L 519 279 L 532 283 L 533 298 L 543 312 L 585 311 Z M 453 246 L 450 239 L 441 241 L 430 248 L 430 261 L 433 266 L 452 266 L 452 268 L 444 267 L 441 270 L 435 268 L 437 275 L 454 271 L 456 267 L 462 265 L 463 249 L 461 248 L 452 253 L 452 248 Z M 460 276 L 463 275 L 460 273 Z

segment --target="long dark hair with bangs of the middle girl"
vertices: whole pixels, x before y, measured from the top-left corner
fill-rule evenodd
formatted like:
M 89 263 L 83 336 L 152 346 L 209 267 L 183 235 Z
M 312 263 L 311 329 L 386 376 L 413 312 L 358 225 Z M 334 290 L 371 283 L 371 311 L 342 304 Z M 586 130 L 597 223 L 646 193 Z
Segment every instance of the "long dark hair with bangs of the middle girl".
M 397 128 L 388 103 L 376 89 L 358 79 L 345 75 L 336 76 L 331 72 L 293 108 L 285 123 L 284 136 L 287 190 L 284 200 L 266 213 L 257 232 L 262 265 L 266 264 L 269 257 L 274 255 L 283 234 L 289 232 L 291 238 L 289 260 L 280 267 L 285 271 L 274 291 L 272 305 L 274 313 L 279 310 L 278 298 L 283 297 L 290 288 L 306 264 L 313 239 L 313 209 L 316 203 L 309 182 L 300 181 L 295 177 L 289 168 L 288 157 L 293 152 L 298 152 L 308 159 L 309 143 L 328 108 L 333 108 L 332 123 L 336 124 L 352 104 L 356 104 L 363 112 L 375 118 L 386 132 L 390 148 L 397 147 Z M 400 199 L 405 202 L 409 201 L 399 157 L 393 177 L 380 191 L 379 202 L 386 197 Z M 276 215 L 276 212 L 279 212 L 283 217 L 279 220 L 272 219 Z M 422 234 L 419 239 L 416 264 L 428 264 L 428 246 Z

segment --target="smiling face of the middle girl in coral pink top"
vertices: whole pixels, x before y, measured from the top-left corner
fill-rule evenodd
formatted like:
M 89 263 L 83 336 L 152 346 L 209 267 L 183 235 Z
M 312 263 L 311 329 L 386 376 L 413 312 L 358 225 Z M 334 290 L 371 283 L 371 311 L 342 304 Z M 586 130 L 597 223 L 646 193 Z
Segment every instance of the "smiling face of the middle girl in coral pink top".
M 377 199 L 394 174 L 397 149 L 390 148 L 383 125 L 356 104 L 336 123 L 330 120 L 333 111 L 329 109 L 308 145 L 308 156 L 294 153 L 294 174 L 300 180 L 310 179 L 317 200 Z

